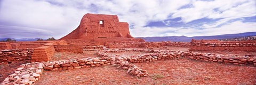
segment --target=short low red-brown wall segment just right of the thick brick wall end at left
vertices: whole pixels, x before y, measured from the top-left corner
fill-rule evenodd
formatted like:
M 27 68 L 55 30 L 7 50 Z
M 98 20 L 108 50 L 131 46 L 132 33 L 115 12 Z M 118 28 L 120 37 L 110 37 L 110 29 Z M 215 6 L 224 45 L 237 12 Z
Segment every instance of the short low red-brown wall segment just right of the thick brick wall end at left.
M 54 45 L 57 52 L 83 53 L 83 45 Z

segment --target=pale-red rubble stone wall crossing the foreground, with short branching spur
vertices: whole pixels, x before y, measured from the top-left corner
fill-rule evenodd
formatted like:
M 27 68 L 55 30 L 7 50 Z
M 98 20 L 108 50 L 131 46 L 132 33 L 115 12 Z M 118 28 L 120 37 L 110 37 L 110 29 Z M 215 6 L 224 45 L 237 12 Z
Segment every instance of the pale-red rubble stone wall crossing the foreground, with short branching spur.
M 156 52 L 138 56 L 111 56 L 107 52 L 123 52 L 123 51 L 139 51 L 139 52 Z M 177 59 L 189 57 L 190 59 L 197 59 L 212 62 L 225 62 L 227 64 L 252 64 L 256 65 L 255 54 L 247 54 L 246 56 L 234 55 L 217 55 L 206 53 L 190 53 L 181 51 L 163 51 L 163 50 L 137 50 L 137 49 L 110 49 L 98 52 L 100 58 L 85 58 L 77 60 L 59 60 L 48 62 L 33 62 L 22 64 L 15 71 L 9 75 L 2 84 L 34 84 L 41 76 L 43 70 L 59 71 L 72 70 L 89 67 L 99 67 L 105 65 L 117 65 L 118 68 L 127 70 L 127 73 L 135 75 L 136 77 L 147 77 L 148 73 L 145 70 L 139 69 L 133 62 L 154 62 L 159 60 Z

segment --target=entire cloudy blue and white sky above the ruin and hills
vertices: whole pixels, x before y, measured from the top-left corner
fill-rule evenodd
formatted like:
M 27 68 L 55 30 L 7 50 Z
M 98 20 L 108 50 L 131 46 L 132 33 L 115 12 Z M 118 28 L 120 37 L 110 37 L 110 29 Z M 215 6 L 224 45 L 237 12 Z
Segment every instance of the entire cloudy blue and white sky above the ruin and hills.
M 59 39 L 86 13 L 118 15 L 134 37 L 256 32 L 255 0 L 0 0 L 0 38 Z

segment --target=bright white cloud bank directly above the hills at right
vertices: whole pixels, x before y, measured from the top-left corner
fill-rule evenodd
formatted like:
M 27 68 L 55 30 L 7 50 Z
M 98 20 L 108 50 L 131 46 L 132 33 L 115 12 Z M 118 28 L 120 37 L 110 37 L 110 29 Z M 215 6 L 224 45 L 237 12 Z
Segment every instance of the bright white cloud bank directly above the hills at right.
M 170 32 L 166 34 L 169 36 L 173 36 L 173 35 L 207 36 L 207 35 L 235 34 L 235 33 L 244 33 L 244 32 L 256 32 L 256 23 L 254 22 L 243 23 L 242 21 L 236 21 L 236 22 L 222 25 L 220 27 L 213 27 L 211 29 L 194 29 L 194 28 L 177 29 L 174 32 Z

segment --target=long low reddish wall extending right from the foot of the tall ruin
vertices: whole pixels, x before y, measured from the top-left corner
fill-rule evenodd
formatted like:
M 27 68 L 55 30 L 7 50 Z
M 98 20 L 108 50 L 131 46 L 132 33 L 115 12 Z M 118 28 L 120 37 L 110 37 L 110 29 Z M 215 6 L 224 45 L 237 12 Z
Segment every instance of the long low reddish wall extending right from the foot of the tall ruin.
M 188 42 L 141 42 L 141 43 L 108 43 L 107 48 L 158 48 L 160 46 L 190 47 Z

